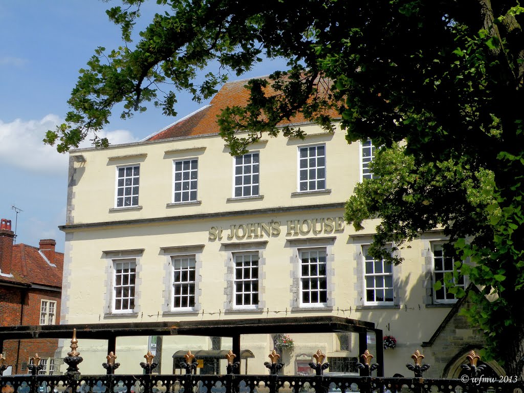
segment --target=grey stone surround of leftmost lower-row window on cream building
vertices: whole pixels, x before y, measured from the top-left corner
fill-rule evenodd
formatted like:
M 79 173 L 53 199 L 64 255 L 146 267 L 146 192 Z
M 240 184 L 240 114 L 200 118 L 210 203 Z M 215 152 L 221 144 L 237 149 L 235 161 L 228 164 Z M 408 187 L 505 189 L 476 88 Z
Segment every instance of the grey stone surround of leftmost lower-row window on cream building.
M 143 266 L 140 263 L 141 258 L 144 255 L 144 249 L 128 249 L 128 250 L 111 250 L 103 251 L 102 259 L 105 259 L 105 275 L 104 281 L 104 318 L 112 316 L 138 316 L 140 312 L 140 285 L 142 282 L 142 269 Z M 135 308 L 133 312 L 115 312 L 113 311 L 113 278 L 114 278 L 114 261 L 118 259 L 135 259 L 136 270 L 135 270 Z

